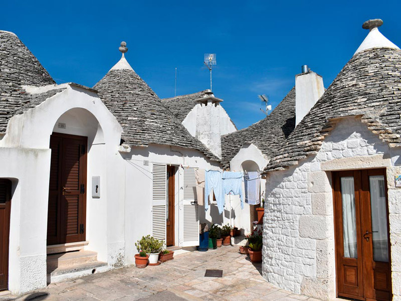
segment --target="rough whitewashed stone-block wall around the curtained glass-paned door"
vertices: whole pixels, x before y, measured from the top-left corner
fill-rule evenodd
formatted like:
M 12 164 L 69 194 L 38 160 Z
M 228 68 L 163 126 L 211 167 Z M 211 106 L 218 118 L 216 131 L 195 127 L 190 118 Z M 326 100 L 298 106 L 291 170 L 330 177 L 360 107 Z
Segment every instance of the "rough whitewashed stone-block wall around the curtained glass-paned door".
M 394 298 L 401 295 L 401 150 L 390 149 L 359 119 L 339 121 L 318 154 L 266 179 L 263 276 L 284 289 L 333 299 L 336 294 L 331 173 L 386 168 Z M 358 160 L 356 160 L 358 158 Z

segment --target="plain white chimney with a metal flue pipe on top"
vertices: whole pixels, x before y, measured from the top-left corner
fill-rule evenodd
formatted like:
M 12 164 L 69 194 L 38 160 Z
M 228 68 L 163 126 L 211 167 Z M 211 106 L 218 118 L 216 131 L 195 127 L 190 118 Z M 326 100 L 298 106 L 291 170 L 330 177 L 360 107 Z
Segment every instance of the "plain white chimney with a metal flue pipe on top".
M 303 65 L 302 73 L 295 76 L 295 125 L 301 122 L 323 93 L 323 78 Z

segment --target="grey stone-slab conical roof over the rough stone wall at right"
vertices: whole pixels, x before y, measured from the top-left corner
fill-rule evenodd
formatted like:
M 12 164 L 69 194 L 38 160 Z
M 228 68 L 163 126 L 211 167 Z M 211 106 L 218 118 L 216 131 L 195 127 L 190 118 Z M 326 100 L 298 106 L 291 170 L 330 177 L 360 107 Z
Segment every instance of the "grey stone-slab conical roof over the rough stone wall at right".
M 265 172 L 283 170 L 316 154 L 335 119 L 360 116 L 390 147 L 401 146 L 401 50 L 356 53 L 297 125 Z

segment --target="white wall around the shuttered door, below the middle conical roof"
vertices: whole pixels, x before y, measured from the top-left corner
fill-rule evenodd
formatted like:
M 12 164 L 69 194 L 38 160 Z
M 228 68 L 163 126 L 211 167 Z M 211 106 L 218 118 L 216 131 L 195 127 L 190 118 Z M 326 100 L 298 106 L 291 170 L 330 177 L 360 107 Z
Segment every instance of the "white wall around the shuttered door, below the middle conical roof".
M 135 262 L 137 253 L 135 242 L 143 235 L 151 234 L 152 206 L 152 164 L 172 166 L 192 166 L 205 170 L 220 170 L 218 163 L 210 162 L 197 150 L 175 146 L 151 144 L 147 147 L 133 147 L 131 153 L 121 154 L 125 160 L 125 264 Z M 145 161 L 145 163 L 144 163 Z M 146 165 L 148 164 L 148 165 Z M 175 245 L 179 245 L 180 212 L 178 197 L 178 175 L 175 178 Z M 203 206 L 199 206 L 199 218 L 202 217 Z

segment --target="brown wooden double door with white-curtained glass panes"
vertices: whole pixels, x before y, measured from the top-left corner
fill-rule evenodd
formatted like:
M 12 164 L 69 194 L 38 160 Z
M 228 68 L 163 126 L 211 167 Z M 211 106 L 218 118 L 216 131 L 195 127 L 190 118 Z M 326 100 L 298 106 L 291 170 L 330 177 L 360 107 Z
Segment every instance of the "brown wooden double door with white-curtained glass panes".
M 338 296 L 390 300 L 385 170 L 333 173 Z

